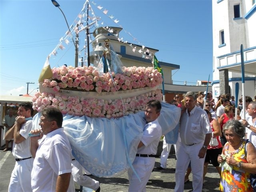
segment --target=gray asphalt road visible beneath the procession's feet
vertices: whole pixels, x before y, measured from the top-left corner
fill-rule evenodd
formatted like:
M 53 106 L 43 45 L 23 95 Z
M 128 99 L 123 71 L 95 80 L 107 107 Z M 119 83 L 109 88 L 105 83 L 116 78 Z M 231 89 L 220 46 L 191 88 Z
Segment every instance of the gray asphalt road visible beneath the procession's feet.
M 166 170 L 157 170 L 156 167 L 160 166 L 160 158 L 156 158 L 155 168 L 148 181 L 146 191 L 147 192 L 172 192 L 175 187 L 175 155 L 171 154 L 167 162 Z M 10 182 L 10 176 L 14 168 L 15 160 L 11 151 L 3 152 L 0 150 L 0 191 L 8 192 L 8 185 Z M 98 178 L 91 176 L 92 178 L 100 182 L 101 192 L 127 192 L 129 181 L 127 172 L 119 176 L 112 178 Z M 190 182 L 185 184 L 184 192 L 192 192 L 192 174 L 190 174 Z M 205 177 L 203 186 L 204 192 L 217 192 L 219 176 L 216 169 L 213 166 L 208 166 L 208 173 Z M 91 192 L 88 190 L 86 192 Z

